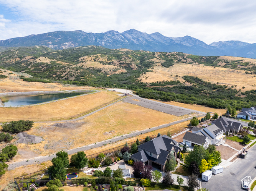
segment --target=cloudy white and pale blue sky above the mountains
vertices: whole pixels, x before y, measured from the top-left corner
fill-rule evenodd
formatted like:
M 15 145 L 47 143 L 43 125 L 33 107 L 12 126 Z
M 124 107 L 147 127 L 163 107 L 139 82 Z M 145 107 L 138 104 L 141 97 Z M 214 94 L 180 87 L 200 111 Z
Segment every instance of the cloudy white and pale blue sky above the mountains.
M 256 42 L 256 1 L 0 0 L 0 40 L 51 31 L 192 36 L 206 44 Z

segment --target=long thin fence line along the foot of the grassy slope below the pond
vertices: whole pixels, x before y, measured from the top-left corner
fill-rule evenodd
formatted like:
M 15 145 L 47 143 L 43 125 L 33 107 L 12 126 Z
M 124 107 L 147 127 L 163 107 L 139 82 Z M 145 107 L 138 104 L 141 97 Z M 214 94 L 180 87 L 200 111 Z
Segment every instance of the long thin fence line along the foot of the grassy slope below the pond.
M 87 110 L 85 112 L 82 112 L 82 113 L 79 113 L 79 114 L 76 114 L 76 115 L 72 115 L 72 116 L 68 116 L 68 117 L 43 117 L 43 118 L 19 118 L 19 119 L 2 119 L 0 120 L 1 123 L 6 123 L 6 122 L 10 122 L 10 121 L 18 121 L 18 120 L 30 120 L 30 121 L 61 121 L 61 120 L 70 120 L 70 119 L 74 119 L 74 118 L 78 118 L 78 117 L 81 117 L 87 113 L 91 113 L 101 107 L 104 107 L 106 105 L 109 105 L 111 104 L 112 102 L 115 102 L 117 100 L 121 99 L 120 97 L 117 97 L 116 99 L 112 100 L 112 101 L 109 101 L 105 104 L 102 104 L 102 105 L 99 105 L 97 107 L 94 107 L 90 110 Z M 123 99 L 123 98 L 122 98 Z

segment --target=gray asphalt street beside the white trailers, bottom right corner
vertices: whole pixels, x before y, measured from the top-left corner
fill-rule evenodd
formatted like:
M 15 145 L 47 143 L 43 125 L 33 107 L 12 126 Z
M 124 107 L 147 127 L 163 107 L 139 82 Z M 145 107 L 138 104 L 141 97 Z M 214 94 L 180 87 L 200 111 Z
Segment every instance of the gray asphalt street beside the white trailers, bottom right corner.
M 207 188 L 209 191 L 239 191 L 241 180 L 246 176 L 251 176 L 253 180 L 256 176 L 256 146 L 248 151 L 245 159 L 238 159 L 229 167 L 224 168 L 224 172 L 213 175 L 208 182 L 202 182 L 202 188 Z

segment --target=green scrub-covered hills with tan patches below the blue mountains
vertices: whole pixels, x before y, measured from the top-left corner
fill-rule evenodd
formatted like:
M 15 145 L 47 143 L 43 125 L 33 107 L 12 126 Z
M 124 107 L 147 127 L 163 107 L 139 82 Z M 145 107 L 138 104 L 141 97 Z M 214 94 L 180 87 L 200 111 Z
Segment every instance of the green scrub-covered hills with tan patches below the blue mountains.
M 58 51 L 36 46 L 11 48 L 0 52 L 2 68 L 25 72 L 35 77 L 35 79 L 24 79 L 26 81 L 42 81 L 40 78 L 43 78 L 81 86 L 121 87 L 135 90 L 142 97 L 215 108 L 226 108 L 227 105 L 236 109 L 255 106 L 254 90 L 241 92 L 235 87 L 211 84 L 193 76 L 183 76 L 183 80 L 187 82 L 185 84 L 180 81 L 143 83 L 139 79 L 142 74 L 152 72 L 154 66 L 162 65 L 168 68 L 176 63 L 230 68 L 236 66 L 237 69 L 246 70 L 247 73 L 256 73 L 254 59 L 249 63 L 247 59 L 245 64 L 242 58 L 230 59 L 200 57 L 179 52 L 106 49 L 98 46 Z

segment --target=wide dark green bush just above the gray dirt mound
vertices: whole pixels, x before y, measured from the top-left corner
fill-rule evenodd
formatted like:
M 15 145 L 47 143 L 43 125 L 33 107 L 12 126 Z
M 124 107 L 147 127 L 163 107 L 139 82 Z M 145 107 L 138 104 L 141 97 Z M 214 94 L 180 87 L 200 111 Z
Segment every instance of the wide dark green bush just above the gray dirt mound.
M 2 130 L 9 133 L 20 133 L 31 129 L 33 124 L 34 122 L 29 120 L 11 121 L 10 123 L 4 123 Z

